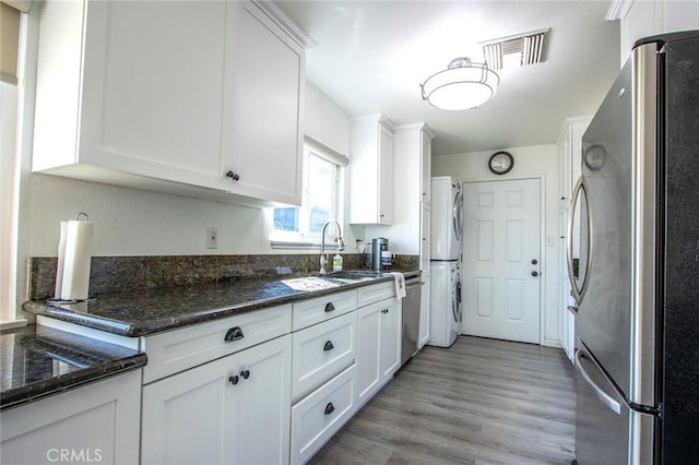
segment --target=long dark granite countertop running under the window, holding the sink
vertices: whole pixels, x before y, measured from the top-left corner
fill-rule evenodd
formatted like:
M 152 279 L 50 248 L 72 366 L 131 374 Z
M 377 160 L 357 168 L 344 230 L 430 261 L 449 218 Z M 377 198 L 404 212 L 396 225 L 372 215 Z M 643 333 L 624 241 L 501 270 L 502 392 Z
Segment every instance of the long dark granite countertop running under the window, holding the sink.
M 419 275 L 419 271 L 396 271 L 404 273 L 406 278 Z M 393 277 L 388 274 L 365 279 L 317 276 L 291 276 L 274 281 L 239 279 L 213 285 L 103 294 L 88 302 L 28 301 L 23 309 L 34 314 L 137 337 L 391 279 Z

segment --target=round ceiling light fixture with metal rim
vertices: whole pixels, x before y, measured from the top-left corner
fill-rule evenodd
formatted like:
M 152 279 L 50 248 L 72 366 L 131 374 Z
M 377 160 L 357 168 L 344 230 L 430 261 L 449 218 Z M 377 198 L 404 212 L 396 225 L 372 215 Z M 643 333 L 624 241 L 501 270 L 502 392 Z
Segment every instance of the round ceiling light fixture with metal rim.
M 449 67 L 420 84 L 423 100 L 443 110 L 467 110 L 488 102 L 500 78 L 487 63 L 474 63 L 467 57 L 454 58 Z

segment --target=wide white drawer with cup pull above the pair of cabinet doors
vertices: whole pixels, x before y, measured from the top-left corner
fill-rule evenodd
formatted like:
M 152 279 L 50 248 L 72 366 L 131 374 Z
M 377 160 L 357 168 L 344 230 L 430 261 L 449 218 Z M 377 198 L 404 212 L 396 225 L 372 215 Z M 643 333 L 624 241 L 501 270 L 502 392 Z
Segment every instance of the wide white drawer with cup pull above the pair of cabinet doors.
M 228 331 L 238 327 L 242 337 L 226 342 Z M 237 314 L 145 337 L 149 363 L 143 383 L 233 354 L 286 334 L 292 329 L 292 305 Z

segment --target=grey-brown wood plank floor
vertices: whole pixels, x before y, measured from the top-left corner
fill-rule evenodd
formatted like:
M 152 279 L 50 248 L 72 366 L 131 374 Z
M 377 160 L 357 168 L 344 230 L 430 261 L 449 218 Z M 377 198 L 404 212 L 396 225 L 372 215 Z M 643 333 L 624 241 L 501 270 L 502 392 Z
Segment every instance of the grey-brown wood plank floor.
M 570 464 L 574 408 L 562 350 L 461 336 L 420 350 L 311 464 Z

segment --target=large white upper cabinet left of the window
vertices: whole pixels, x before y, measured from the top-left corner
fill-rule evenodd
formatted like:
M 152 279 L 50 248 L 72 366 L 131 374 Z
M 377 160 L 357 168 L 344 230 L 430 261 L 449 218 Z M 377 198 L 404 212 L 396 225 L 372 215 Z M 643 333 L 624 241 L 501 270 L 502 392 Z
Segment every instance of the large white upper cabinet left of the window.
M 34 171 L 300 203 L 304 49 L 257 5 L 40 8 Z

